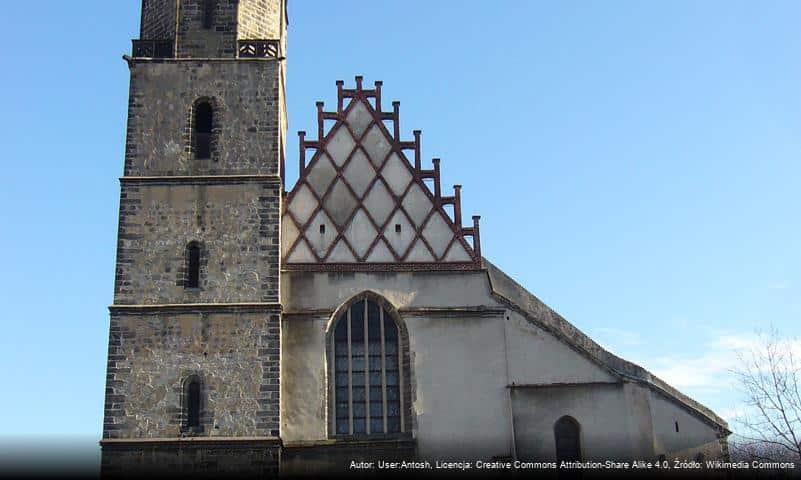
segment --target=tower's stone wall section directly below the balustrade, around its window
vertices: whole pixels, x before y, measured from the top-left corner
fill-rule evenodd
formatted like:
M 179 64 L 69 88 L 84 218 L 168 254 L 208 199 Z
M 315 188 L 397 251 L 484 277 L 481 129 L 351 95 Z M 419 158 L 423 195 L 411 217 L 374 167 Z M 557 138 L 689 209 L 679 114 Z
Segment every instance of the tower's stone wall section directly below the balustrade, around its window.
M 148 62 L 131 71 L 126 176 L 277 175 L 280 62 Z M 212 154 L 194 158 L 192 108 L 213 106 Z

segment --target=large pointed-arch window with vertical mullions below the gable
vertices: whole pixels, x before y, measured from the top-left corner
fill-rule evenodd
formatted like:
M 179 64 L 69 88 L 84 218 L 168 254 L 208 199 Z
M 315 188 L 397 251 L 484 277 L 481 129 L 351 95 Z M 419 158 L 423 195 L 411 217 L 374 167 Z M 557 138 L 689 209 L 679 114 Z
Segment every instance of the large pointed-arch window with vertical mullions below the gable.
M 366 295 L 339 315 L 332 338 L 335 435 L 406 431 L 401 337 L 390 312 Z

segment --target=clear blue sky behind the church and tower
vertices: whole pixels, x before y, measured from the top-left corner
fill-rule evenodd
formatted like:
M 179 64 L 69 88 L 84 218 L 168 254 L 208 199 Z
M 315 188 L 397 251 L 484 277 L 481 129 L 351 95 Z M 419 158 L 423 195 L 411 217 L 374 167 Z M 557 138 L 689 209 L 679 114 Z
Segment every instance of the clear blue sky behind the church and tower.
M 139 3 L 0 18 L 0 437 L 100 435 Z M 799 333 L 799 18 L 797 1 L 294 0 L 288 183 L 314 102 L 383 80 L 482 215 L 486 257 L 727 415 L 733 349 Z

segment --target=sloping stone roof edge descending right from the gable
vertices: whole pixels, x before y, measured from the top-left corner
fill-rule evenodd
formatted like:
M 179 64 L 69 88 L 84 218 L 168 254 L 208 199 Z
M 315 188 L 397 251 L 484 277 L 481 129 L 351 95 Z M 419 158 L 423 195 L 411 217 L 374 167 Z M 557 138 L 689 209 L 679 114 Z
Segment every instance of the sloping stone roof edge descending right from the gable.
M 571 347 L 615 374 L 647 385 L 652 390 L 656 390 L 669 399 L 679 402 L 706 421 L 723 429 L 725 435 L 731 433 L 728 423 L 715 412 L 681 393 L 643 367 L 624 360 L 604 349 L 485 257 L 482 257 L 482 264 L 487 271 L 492 295 L 502 303 L 517 310 L 529 321 L 553 333 Z

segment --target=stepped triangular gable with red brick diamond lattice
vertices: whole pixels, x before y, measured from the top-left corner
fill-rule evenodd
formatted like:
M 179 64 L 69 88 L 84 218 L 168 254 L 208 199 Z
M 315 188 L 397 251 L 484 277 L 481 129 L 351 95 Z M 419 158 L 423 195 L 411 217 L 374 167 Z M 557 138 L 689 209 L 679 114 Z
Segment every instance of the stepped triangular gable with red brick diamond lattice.
M 400 140 L 400 102 L 381 109 L 375 89 L 343 88 L 337 109 L 317 102 L 318 140 L 300 136 L 300 177 L 286 197 L 281 228 L 287 270 L 475 270 L 481 265 L 479 218 L 461 222 L 460 185 L 443 197 L 439 159 L 423 170 L 420 131 Z M 325 122 L 334 121 L 325 131 Z M 391 131 L 390 131 L 391 130 Z M 313 151 L 306 162 L 307 151 Z M 412 151 L 414 164 L 406 157 Z M 434 191 L 426 184 L 431 180 Z M 453 216 L 444 208 L 453 207 Z M 471 242 L 467 241 L 470 238 Z

